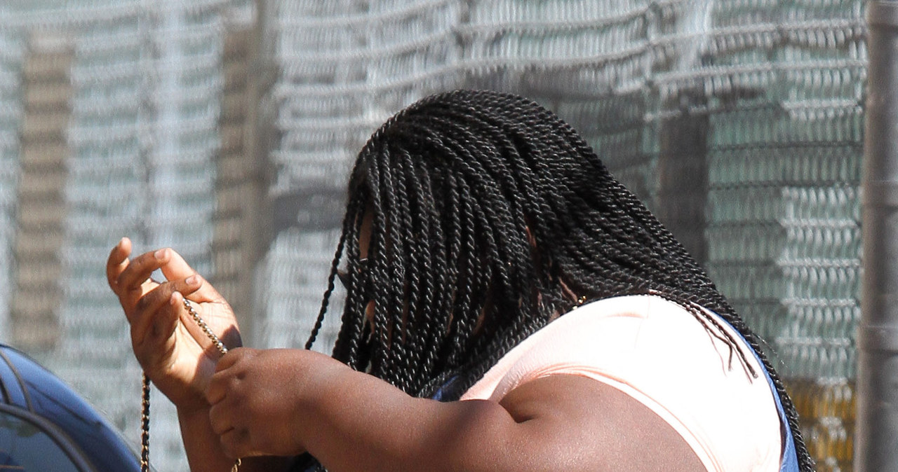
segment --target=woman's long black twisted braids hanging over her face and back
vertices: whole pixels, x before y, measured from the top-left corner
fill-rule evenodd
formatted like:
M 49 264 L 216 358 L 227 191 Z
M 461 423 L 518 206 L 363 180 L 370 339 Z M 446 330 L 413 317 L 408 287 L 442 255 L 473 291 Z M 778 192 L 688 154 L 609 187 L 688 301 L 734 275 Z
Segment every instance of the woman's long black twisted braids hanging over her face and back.
M 347 299 L 333 356 L 418 397 L 460 398 L 580 296 L 664 296 L 726 337 L 698 306 L 708 308 L 760 356 L 801 469 L 813 470 L 795 407 L 753 332 L 583 139 L 533 101 L 457 90 L 418 101 L 372 135 L 350 176 L 307 348 L 341 262 Z

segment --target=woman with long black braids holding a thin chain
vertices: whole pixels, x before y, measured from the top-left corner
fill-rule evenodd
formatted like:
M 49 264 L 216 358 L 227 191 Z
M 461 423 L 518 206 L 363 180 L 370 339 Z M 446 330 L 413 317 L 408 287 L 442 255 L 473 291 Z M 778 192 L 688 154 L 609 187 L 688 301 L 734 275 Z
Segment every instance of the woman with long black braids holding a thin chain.
M 237 348 L 230 307 L 177 253 L 129 255 L 110 253 L 110 287 L 194 471 L 813 468 L 753 333 L 526 99 L 436 95 L 365 145 L 306 347 L 339 278 L 332 358 Z

